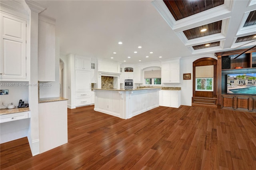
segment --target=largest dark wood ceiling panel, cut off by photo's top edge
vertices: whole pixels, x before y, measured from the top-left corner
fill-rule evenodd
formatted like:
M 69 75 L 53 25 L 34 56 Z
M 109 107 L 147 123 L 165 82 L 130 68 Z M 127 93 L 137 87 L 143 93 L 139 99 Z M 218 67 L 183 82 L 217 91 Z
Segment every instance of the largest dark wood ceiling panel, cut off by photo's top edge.
M 180 20 L 224 4 L 224 0 L 164 0 L 174 19 Z

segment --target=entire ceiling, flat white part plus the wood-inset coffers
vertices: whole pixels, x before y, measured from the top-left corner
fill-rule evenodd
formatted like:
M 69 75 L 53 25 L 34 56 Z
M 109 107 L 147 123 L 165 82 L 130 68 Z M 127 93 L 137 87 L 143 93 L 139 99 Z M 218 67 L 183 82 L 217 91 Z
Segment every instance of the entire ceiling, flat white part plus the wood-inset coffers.
M 33 2 L 46 7 L 40 15 L 56 19 L 62 55 L 145 63 L 256 45 L 256 0 Z

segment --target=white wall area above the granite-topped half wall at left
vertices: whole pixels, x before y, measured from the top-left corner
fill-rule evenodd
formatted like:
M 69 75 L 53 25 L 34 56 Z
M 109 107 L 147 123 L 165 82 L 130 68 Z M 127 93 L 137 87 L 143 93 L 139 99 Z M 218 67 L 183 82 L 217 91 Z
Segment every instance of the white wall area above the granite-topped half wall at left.
M 55 81 L 40 82 L 40 97 L 60 97 L 60 45 L 59 40 L 56 38 L 55 42 Z M 50 86 L 48 86 L 50 85 Z

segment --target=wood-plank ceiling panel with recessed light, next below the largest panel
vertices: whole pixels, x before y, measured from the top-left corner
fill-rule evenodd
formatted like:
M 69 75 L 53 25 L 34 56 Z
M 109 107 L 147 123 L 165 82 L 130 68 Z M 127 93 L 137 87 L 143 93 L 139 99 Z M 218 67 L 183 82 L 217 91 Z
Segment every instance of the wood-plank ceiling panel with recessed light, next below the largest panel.
M 222 20 L 214 23 L 206 24 L 204 26 L 199 26 L 196 28 L 185 30 L 183 31 L 183 33 L 185 34 L 186 38 L 188 38 L 188 40 L 191 40 L 194 38 L 200 38 L 200 37 L 209 36 L 212 34 L 218 34 L 221 32 L 221 25 L 222 25 Z M 200 30 L 202 30 L 203 28 L 206 28 L 207 30 L 205 32 L 200 32 Z

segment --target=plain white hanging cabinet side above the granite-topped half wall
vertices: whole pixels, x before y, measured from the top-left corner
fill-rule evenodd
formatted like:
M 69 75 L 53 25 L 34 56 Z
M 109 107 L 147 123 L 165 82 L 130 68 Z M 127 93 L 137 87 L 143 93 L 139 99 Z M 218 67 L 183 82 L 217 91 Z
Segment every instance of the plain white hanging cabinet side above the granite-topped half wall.
M 55 81 L 55 20 L 38 17 L 38 81 Z

